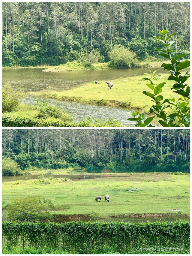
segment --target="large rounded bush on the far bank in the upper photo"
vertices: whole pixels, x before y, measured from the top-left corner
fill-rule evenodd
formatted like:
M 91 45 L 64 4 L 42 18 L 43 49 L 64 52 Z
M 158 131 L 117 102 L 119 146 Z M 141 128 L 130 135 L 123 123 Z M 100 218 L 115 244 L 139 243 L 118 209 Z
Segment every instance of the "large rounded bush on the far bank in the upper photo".
M 138 68 L 140 65 L 136 54 L 121 45 L 115 46 L 108 56 L 110 68 Z

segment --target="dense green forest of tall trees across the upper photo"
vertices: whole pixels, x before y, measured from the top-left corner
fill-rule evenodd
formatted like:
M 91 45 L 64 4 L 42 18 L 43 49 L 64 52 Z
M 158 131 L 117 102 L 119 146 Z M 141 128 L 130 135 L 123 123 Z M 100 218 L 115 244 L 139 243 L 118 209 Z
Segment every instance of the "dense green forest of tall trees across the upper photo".
M 190 57 L 190 2 L 3 2 L 2 65 L 108 62 L 116 45 L 143 59 L 160 29 Z

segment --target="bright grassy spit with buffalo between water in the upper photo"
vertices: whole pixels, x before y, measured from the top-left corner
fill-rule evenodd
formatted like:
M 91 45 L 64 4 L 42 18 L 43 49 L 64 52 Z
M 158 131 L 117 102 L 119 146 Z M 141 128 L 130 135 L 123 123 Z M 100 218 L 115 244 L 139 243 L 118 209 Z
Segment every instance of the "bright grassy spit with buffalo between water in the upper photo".
M 169 74 L 163 74 L 163 78 L 159 82 L 166 81 L 161 95 L 166 98 L 170 98 L 170 95 L 173 95 L 178 99 L 179 95 L 174 94 L 171 90 L 174 82 L 167 81 L 168 76 Z M 146 86 L 143 76 L 113 80 L 113 89 L 109 89 L 107 84 L 105 84 L 105 81 L 99 82 L 101 84 L 95 84 L 95 82 L 92 81 L 63 92 L 42 90 L 40 92 L 30 92 L 29 95 L 77 101 L 87 104 L 129 107 L 131 109 L 138 109 L 145 113 L 149 113 L 149 108 L 152 105 L 151 98 L 144 95 L 143 90 L 151 90 Z M 190 80 L 188 83 L 190 83 Z

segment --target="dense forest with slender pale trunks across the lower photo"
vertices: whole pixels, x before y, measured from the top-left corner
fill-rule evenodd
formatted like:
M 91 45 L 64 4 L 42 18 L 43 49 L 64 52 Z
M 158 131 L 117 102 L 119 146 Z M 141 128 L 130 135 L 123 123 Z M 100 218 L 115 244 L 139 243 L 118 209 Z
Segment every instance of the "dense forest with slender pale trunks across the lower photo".
M 178 152 L 173 156 L 172 152 Z M 59 168 L 129 165 L 190 166 L 189 130 L 16 129 L 2 131 L 3 158 L 22 169 L 28 165 Z M 170 171 L 170 170 L 169 170 Z

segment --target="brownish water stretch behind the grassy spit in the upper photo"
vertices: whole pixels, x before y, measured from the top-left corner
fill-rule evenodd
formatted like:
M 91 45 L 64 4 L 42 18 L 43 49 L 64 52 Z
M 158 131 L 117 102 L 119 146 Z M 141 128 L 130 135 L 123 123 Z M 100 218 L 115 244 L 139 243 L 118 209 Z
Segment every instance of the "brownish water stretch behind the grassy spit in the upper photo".
M 157 68 L 150 68 L 155 71 Z M 25 92 L 51 90 L 69 90 L 80 84 L 94 80 L 114 80 L 120 77 L 132 77 L 149 73 L 149 68 L 128 69 L 100 69 L 69 72 L 43 72 L 44 68 L 13 68 L 2 70 L 2 83 L 10 82 L 11 85 L 20 86 Z M 158 68 L 159 73 L 165 73 L 163 68 Z

